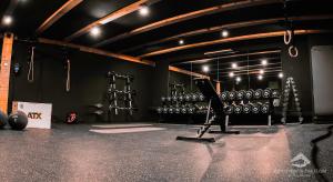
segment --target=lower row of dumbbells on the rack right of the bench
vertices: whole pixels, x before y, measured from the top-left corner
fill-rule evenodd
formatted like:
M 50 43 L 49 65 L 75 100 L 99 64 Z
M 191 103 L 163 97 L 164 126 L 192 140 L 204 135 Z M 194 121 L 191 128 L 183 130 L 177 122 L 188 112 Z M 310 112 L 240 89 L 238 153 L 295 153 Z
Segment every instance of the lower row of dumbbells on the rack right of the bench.
M 270 112 L 269 103 L 246 103 L 246 104 L 230 104 L 224 107 L 225 114 L 268 114 Z

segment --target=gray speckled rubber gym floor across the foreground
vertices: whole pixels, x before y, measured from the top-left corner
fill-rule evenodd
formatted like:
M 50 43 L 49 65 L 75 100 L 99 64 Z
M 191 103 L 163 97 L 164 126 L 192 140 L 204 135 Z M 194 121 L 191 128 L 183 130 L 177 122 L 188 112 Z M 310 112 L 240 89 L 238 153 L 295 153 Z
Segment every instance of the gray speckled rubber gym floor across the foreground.
M 215 143 L 175 141 L 176 135 L 194 135 L 194 125 L 3 130 L 0 181 L 332 181 L 332 136 L 317 142 L 316 154 L 310 143 L 327 127 L 242 127 L 239 135 L 208 134 Z M 311 161 L 304 168 L 291 162 L 300 153 Z

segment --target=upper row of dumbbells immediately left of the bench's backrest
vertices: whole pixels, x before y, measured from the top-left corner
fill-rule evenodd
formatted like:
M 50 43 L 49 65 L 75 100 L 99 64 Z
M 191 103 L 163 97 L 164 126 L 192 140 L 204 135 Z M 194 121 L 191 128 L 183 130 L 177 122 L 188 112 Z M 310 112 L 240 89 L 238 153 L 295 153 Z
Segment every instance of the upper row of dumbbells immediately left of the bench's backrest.
M 182 95 L 173 95 L 173 97 L 162 97 L 161 101 L 165 102 L 202 102 L 204 101 L 204 97 L 202 93 L 189 93 Z

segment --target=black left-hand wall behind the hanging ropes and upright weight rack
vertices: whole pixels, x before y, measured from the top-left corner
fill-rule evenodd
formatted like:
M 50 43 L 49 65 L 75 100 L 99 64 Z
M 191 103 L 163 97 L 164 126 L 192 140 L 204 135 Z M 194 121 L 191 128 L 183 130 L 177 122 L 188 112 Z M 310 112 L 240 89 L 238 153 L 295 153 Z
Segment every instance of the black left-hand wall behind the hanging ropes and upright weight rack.
M 149 109 L 152 104 L 152 79 L 154 68 L 138 63 L 119 61 L 112 58 L 71 50 L 71 91 L 65 92 L 64 51 L 39 44 L 36 48 L 34 82 L 27 81 L 29 47 L 22 42 L 14 43 L 13 63 L 20 63 L 20 75 L 11 78 L 10 101 L 43 102 L 53 104 L 53 115 L 63 119 L 69 111 L 77 111 L 82 121 L 93 121 L 88 115 L 88 105 L 107 101 L 107 72 L 134 75 L 132 89 L 138 91 L 135 103 L 139 111 L 132 118 L 120 114 L 112 118 L 112 122 L 147 121 L 150 120 Z M 123 89 L 120 87 L 119 89 Z M 105 111 L 107 111 L 107 107 Z M 123 112 L 125 113 L 125 112 Z M 107 120 L 107 114 L 103 120 Z

